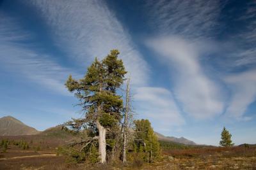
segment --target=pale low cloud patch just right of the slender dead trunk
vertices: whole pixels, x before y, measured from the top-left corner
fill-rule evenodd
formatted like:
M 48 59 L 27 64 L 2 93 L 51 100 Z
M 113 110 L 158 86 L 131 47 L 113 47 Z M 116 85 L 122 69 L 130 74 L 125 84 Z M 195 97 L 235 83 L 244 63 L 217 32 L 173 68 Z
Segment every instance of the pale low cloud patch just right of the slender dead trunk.
M 153 124 L 157 131 L 163 131 L 163 128 L 170 130 L 170 127 L 185 124 L 172 93 L 167 89 L 140 87 L 136 89 L 134 101 L 140 103 L 138 108 L 141 115 L 149 120 L 154 120 Z

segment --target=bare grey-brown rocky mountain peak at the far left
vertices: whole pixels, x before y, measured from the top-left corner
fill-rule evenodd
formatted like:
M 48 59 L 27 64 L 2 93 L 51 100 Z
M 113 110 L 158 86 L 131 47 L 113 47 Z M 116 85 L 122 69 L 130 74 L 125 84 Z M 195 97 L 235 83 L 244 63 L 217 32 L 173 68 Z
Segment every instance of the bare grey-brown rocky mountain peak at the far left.
M 0 118 L 0 136 L 18 136 L 38 134 L 35 128 L 23 124 L 20 120 L 13 117 Z

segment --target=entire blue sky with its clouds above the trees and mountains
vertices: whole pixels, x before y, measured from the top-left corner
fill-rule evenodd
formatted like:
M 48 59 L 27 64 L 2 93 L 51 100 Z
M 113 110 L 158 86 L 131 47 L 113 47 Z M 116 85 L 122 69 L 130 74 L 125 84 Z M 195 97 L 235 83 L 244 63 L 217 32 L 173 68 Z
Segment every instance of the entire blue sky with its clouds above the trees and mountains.
M 218 145 L 225 125 L 256 143 L 255 28 L 255 1 L 0 0 L 0 117 L 81 117 L 65 80 L 117 48 L 155 131 Z

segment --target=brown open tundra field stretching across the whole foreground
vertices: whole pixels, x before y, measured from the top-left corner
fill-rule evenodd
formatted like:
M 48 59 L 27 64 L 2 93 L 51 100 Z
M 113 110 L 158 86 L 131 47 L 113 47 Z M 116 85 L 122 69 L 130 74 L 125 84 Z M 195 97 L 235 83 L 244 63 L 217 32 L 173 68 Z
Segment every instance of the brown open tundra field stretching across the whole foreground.
M 65 157 L 56 155 L 58 143 L 52 139 L 36 141 L 33 137 L 31 141 L 31 136 L 28 136 L 27 140 L 30 143 L 26 150 L 8 145 L 6 152 L 0 153 L 0 169 L 256 169 L 255 146 L 170 148 L 162 150 L 163 156 L 153 164 L 132 162 L 124 166 L 115 162 L 89 166 L 65 163 Z M 36 150 L 38 146 L 40 149 Z

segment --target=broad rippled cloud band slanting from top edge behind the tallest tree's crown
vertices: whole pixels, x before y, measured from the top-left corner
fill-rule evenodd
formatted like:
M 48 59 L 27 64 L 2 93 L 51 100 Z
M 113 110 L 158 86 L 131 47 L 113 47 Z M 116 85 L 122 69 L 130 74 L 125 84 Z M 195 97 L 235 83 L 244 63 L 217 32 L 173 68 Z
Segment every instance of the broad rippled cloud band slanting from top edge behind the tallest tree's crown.
M 27 1 L 38 10 L 61 50 L 78 62 L 88 64 L 109 50 L 120 50 L 132 82 L 148 80 L 148 66 L 132 43 L 130 35 L 104 1 Z

